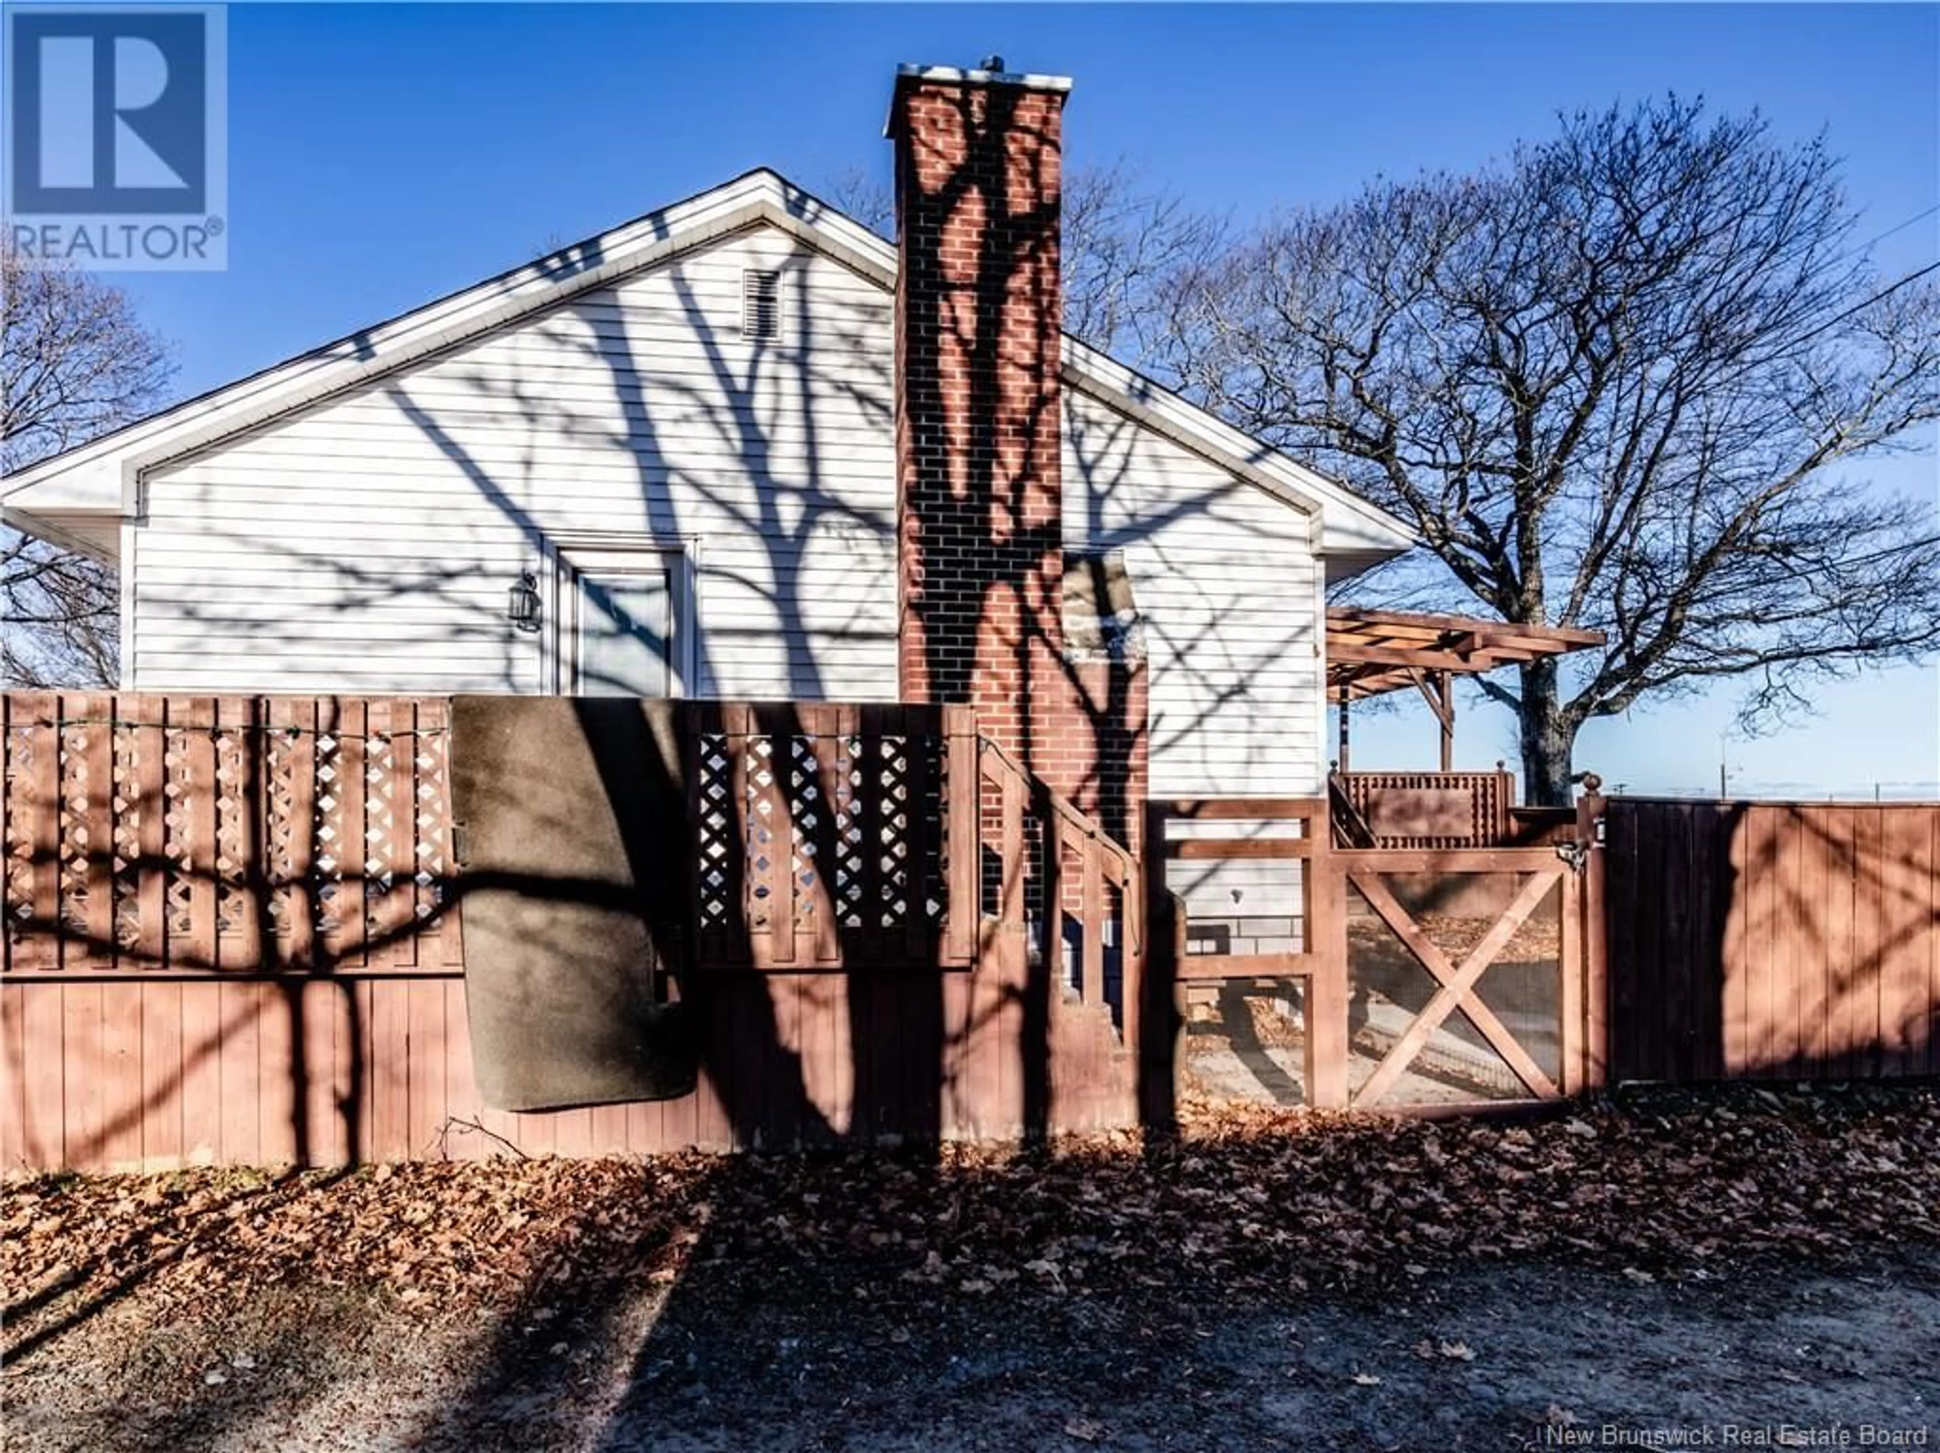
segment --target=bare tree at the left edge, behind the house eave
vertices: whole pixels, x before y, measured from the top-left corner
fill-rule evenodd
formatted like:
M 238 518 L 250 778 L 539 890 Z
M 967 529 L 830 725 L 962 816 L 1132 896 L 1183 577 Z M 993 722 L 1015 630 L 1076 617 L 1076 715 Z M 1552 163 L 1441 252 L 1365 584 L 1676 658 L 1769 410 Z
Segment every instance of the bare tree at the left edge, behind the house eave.
M 0 241 L 0 471 L 83 444 L 161 402 L 169 349 L 128 297 Z M 118 592 L 101 561 L 0 530 L 0 677 L 113 687 Z

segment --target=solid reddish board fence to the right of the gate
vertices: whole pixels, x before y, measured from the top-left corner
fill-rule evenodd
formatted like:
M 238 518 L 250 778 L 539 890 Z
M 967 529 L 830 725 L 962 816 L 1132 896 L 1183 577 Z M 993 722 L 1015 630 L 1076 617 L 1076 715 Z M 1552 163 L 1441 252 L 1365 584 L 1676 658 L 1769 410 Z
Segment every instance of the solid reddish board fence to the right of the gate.
M 1940 1075 L 1940 803 L 1612 797 L 1620 1079 Z

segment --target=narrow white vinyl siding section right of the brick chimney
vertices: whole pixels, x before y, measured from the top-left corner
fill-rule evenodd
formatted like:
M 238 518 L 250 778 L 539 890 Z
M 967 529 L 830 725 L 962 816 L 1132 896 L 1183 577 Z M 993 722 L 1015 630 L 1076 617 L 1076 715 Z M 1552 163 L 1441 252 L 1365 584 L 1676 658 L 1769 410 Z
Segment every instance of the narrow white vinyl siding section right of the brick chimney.
M 1313 797 L 1313 520 L 1065 388 L 1065 543 L 1123 549 L 1145 623 L 1154 797 Z

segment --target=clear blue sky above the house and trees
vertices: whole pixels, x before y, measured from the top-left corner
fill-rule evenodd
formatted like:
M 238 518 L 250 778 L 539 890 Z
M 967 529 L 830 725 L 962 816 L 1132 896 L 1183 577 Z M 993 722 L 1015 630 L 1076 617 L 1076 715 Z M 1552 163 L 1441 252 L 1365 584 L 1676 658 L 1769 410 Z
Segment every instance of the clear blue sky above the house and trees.
M 1073 161 L 1135 157 L 1191 202 L 1259 215 L 1375 173 L 1463 169 L 1558 109 L 1676 89 L 1824 130 L 1862 235 L 1940 202 L 1934 6 L 268 6 L 229 10 L 229 270 L 128 275 L 227 382 L 755 165 L 887 178 L 898 60 L 1077 80 Z M 1940 215 L 1878 246 L 1940 258 Z M 1878 471 L 1936 491 L 1932 442 Z M 1734 693 L 1593 724 L 1577 764 L 1632 790 L 1717 784 Z M 1465 702 L 1465 764 L 1513 762 Z M 1732 788 L 1940 786 L 1940 667 L 1822 693 L 1814 720 L 1723 743 Z M 1356 764 L 1428 766 L 1422 710 L 1360 724 Z

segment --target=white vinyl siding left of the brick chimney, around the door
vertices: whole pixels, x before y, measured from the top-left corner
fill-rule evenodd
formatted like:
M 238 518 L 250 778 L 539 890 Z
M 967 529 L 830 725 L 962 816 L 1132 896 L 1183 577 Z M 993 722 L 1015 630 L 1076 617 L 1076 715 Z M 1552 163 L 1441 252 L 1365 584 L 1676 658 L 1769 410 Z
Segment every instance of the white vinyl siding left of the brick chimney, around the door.
M 778 339 L 741 338 L 747 270 Z M 885 291 L 753 229 L 157 469 L 128 685 L 539 691 L 518 572 L 663 543 L 696 694 L 892 698 L 892 359 Z

